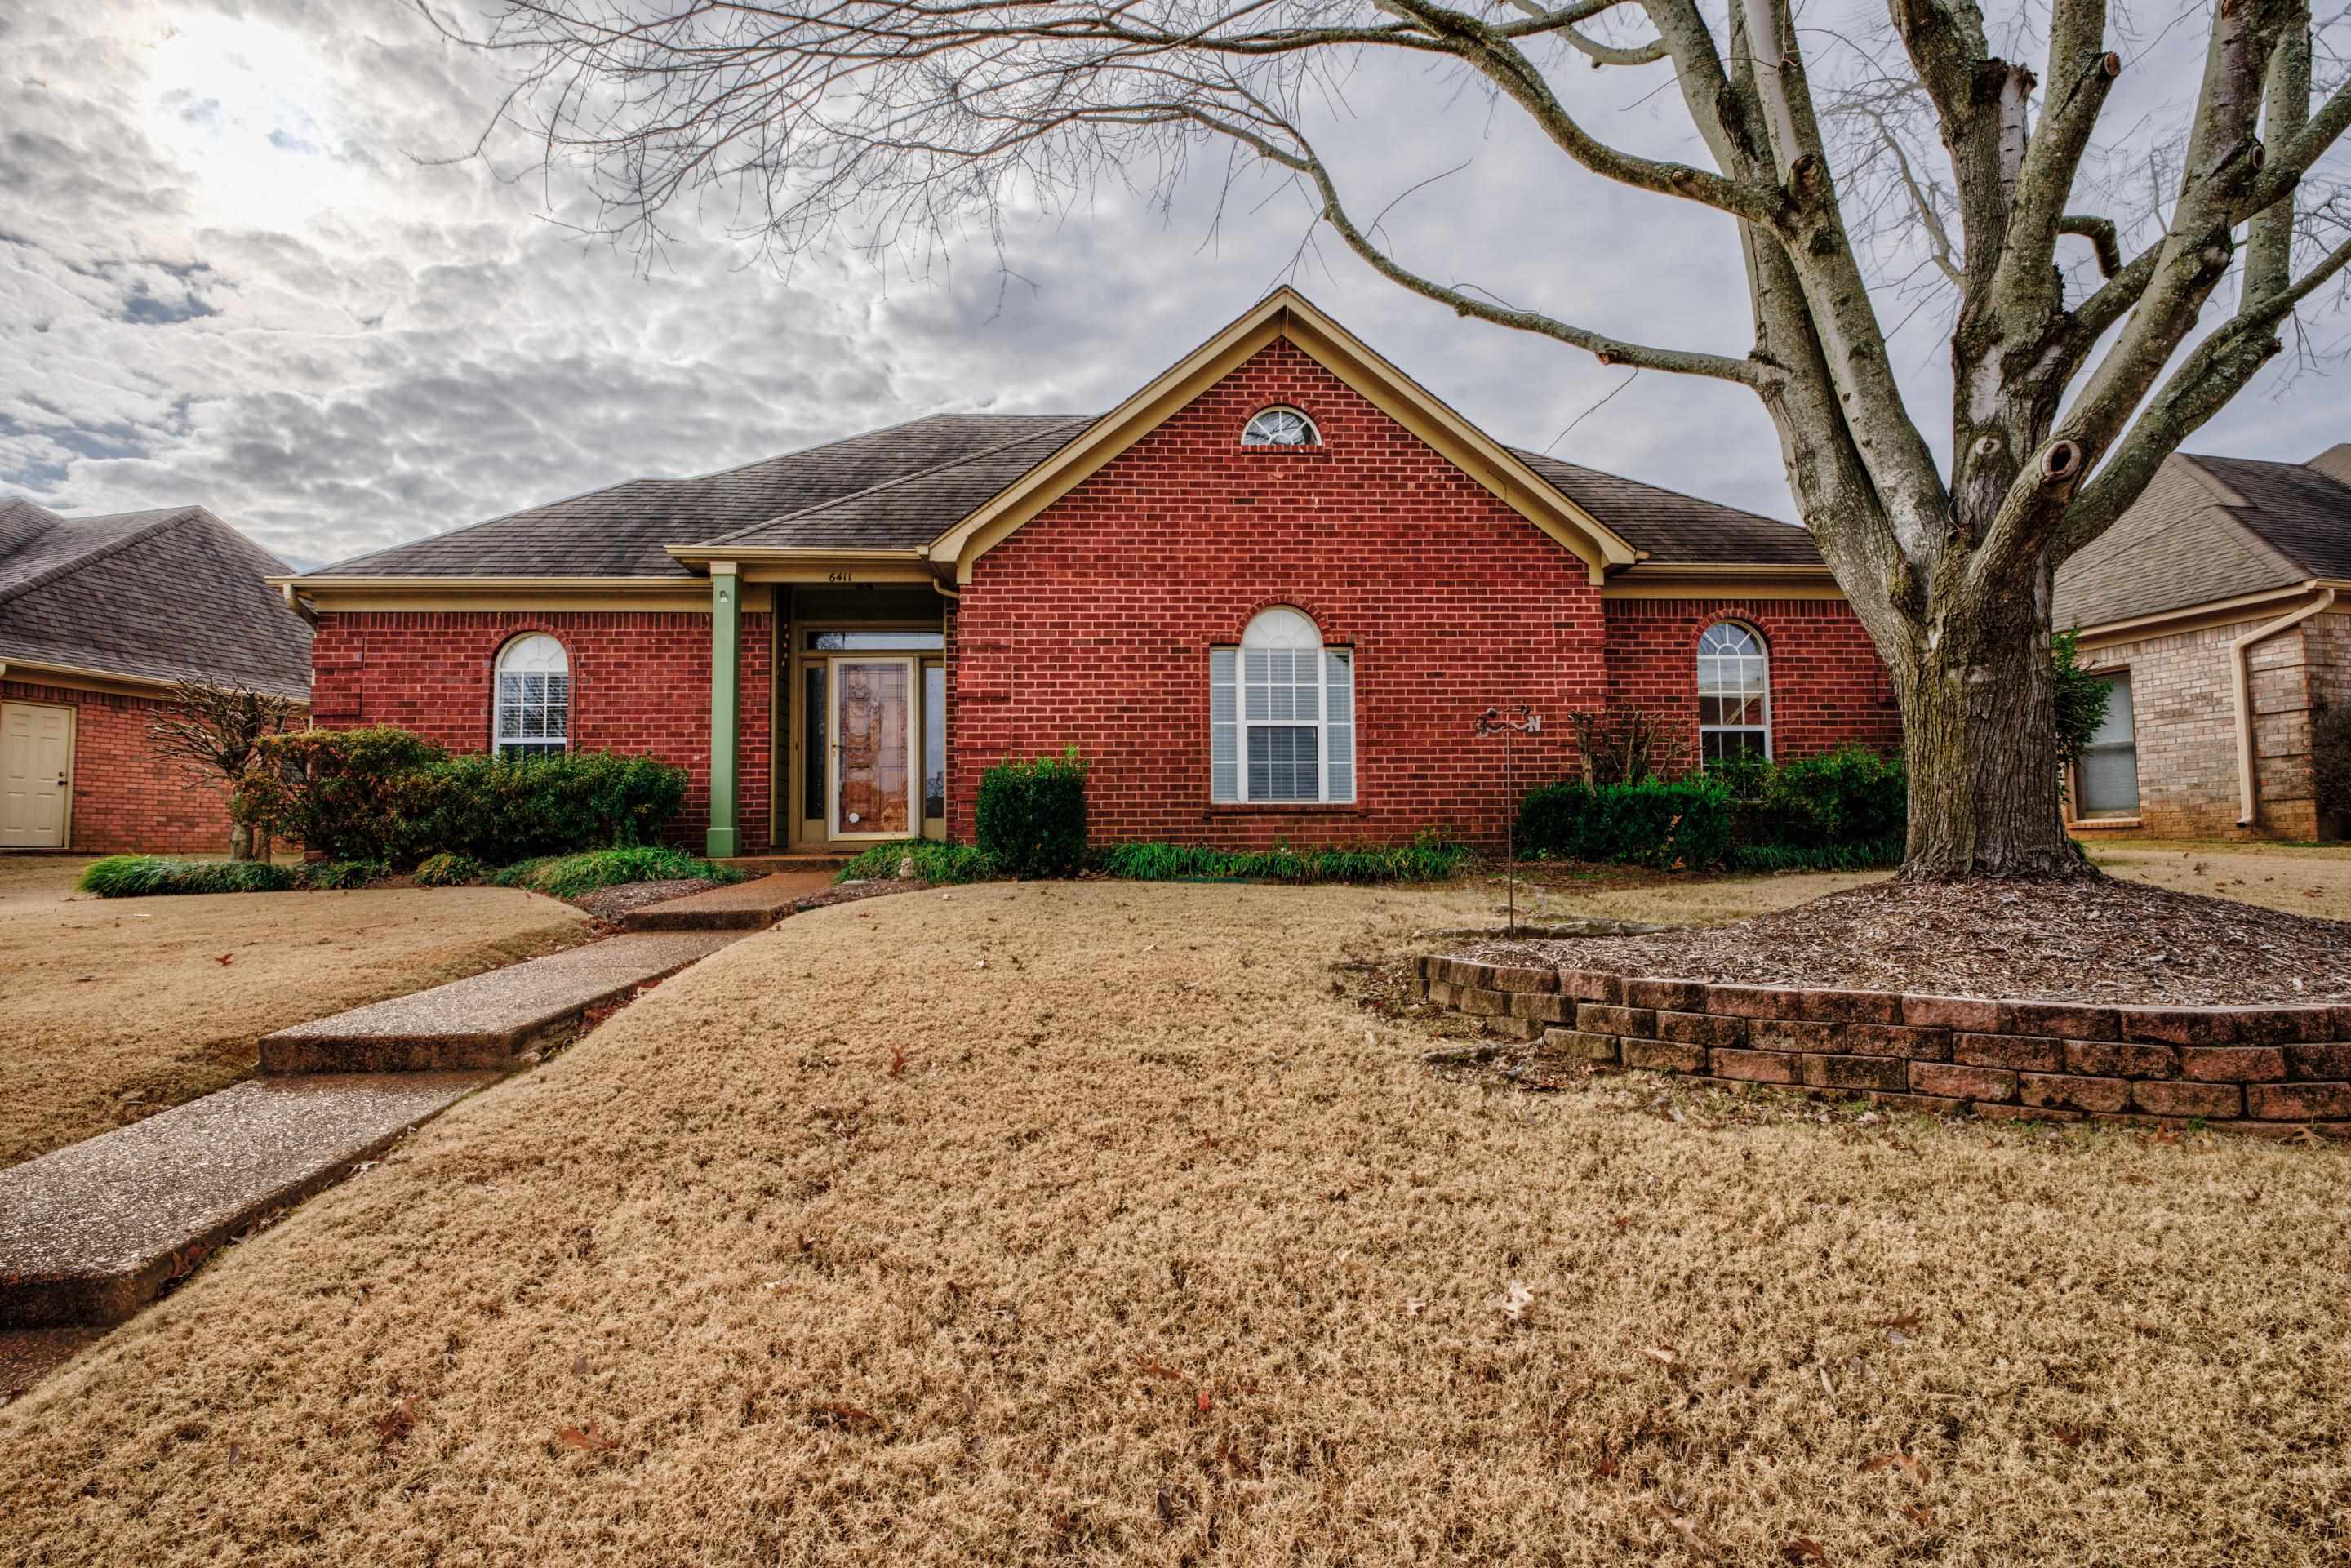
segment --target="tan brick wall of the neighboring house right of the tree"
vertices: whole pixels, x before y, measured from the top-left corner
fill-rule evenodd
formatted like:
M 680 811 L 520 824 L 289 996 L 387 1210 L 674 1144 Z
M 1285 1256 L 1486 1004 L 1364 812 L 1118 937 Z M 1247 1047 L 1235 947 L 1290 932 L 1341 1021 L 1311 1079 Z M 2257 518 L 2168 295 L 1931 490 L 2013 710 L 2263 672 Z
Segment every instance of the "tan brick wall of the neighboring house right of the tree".
M 2332 616 L 2323 616 L 2332 621 Z M 2144 637 L 2083 656 L 2092 670 L 2130 670 L 2144 837 L 2318 837 L 2311 788 L 2311 703 L 2335 679 L 2332 630 L 2311 623 L 2255 644 L 2252 733 L 2257 835 L 2236 825 L 2236 686 L 2231 644 L 2259 621 Z

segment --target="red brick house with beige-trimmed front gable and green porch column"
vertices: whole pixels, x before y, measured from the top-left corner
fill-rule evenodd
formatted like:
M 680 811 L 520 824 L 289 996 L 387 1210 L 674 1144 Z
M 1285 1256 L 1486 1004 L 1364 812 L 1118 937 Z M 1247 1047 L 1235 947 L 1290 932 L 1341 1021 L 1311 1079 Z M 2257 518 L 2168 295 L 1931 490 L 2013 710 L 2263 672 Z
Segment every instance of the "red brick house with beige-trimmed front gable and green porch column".
M 966 839 L 1074 745 L 1100 839 L 1498 842 L 1488 705 L 1900 745 L 1801 529 L 1498 444 L 1281 289 L 1103 416 L 940 414 L 284 578 L 315 719 L 684 764 L 710 853 Z

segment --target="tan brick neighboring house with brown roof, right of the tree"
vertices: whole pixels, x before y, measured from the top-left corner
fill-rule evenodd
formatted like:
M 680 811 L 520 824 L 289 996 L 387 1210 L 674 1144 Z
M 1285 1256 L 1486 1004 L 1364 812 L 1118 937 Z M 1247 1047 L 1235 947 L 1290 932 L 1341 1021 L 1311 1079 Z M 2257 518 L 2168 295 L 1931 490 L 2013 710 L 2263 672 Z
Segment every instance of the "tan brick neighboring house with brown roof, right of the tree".
M 2351 703 L 2351 444 L 2309 463 L 2172 456 L 2057 574 L 2057 625 L 2114 677 L 2078 832 L 2342 837 L 2311 722 Z

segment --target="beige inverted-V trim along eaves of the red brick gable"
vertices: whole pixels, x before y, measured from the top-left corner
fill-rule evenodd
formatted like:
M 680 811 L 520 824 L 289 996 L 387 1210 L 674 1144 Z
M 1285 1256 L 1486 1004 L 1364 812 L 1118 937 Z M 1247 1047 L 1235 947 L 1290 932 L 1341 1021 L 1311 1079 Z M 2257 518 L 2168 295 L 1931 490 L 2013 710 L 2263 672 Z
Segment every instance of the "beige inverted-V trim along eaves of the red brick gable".
M 1317 364 L 1361 393 L 1373 407 L 1434 447 L 1448 463 L 1493 491 L 1505 505 L 1549 534 L 1589 567 L 1599 585 L 1610 567 L 1641 559 L 1620 534 L 1552 489 L 1533 468 L 1491 435 L 1439 402 L 1427 388 L 1382 360 L 1361 339 L 1324 315 L 1291 287 L 1279 287 L 1246 315 L 1194 348 L 1133 397 L 1105 414 L 1074 442 L 1027 470 L 992 501 L 931 541 L 931 562 L 971 581 L 973 562 L 1037 512 L 1077 489 L 1178 409 L 1223 381 L 1274 339 L 1288 339 Z

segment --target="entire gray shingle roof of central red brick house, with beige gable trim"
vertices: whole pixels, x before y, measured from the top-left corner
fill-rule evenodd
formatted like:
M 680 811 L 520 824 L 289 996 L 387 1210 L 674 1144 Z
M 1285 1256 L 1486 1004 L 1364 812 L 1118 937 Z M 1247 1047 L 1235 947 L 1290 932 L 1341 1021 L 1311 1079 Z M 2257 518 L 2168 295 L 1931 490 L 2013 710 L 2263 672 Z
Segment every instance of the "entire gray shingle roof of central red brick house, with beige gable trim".
M 1110 414 L 931 414 L 741 468 L 628 480 L 320 567 L 350 581 L 691 581 L 710 559 L 889 552 L 952 569 L 985 527 L 1060 494 L 1223 367 L 1288 336 L 1587 562 L 1820 569 L 1803 529 L 1493 442 L 1293 289 L 1277 289 Z M 985 548 L 985 545 L 978 545 Z

